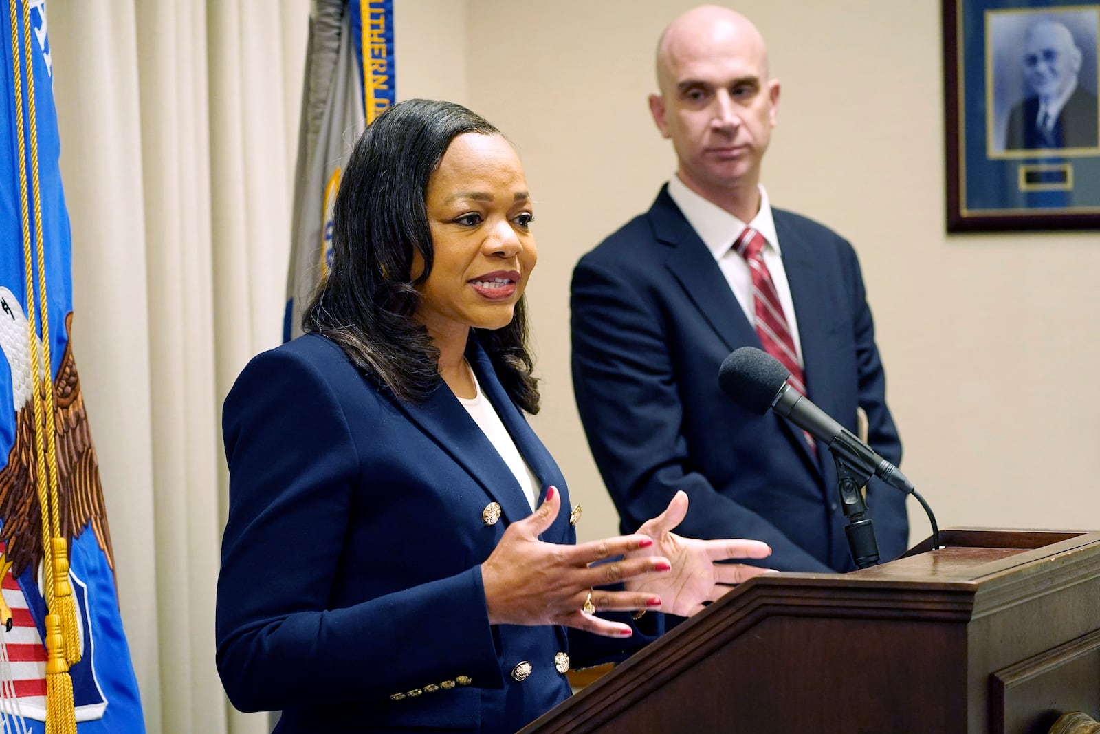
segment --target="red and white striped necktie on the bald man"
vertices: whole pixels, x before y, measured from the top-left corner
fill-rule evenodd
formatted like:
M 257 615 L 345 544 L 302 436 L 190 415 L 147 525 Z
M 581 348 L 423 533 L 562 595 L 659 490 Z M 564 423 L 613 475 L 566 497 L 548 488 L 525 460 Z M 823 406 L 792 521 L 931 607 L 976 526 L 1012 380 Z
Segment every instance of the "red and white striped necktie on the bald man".
M 779 302 L 779 293 L 776 291 L 776 283 L 771 280 L 771 273 L 763 262 L 763 245 L 766 240 L 763 234 L 751 227 L 746 227 L 734 249 L 737 254 L 745 258 L 752 273 L 752 309 L 756 314 L 756 331 L 760 338 L 763 350 L 783 363 L 783 366 L 791 373 L 787 379 L 791 387 L 801 394 L 806 394 L 805 375 L 802 371 L 802 362 L 799 360 L 799 352 L 794 348 L 794 337 L 787 326 L 787 317 L 783 316 L 783 306 Z M 803 431 L 805 434 L 805 431 Z M 806 442 L 811 452 L 816 456 L 817 447 L 810 434 L 805 434 Z

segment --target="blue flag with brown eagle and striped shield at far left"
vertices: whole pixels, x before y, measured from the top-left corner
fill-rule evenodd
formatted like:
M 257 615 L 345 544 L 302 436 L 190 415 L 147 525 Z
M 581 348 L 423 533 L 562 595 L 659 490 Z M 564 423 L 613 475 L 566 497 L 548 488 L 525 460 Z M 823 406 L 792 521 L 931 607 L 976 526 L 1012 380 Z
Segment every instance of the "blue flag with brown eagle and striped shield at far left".
M 44 571 L 40 492 L 52 486 L 55 499 L 44 496 L 55 530 L 47 538 L 64 538 L 69 556 L 59 581 L 67 579 L 72 591 L 68 631 L 76 639 L 67 658 L 77 731 L 143 732 L 99 469 L 69 349 L 72 241 L 45 1 L 9 0 L 0 14 L 0 731 L 45 730 L 46 615 L 62 614 L 61 601 L 47 609 L 57 584 L 43 581 L 54 572 Z

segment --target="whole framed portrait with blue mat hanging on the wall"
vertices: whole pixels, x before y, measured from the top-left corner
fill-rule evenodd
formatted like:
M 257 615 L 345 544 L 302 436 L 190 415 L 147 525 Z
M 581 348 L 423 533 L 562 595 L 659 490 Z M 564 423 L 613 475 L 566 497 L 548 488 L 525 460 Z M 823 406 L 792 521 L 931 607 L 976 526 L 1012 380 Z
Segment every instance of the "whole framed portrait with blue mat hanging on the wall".
M 943 0 L 947 230 L 1100 229 L 1100 0 Z

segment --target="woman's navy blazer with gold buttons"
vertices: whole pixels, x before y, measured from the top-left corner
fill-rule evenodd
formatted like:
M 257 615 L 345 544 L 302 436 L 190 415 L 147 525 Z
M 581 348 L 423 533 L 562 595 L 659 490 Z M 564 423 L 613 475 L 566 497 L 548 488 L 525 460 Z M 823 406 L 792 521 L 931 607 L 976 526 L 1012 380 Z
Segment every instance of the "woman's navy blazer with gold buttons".
M 475 339 L 468 359 L 539 501 L 561 491 L 543 539 L 573 543 L 558 465 Z M 283 710 L 280 733 L 514 732 L 569 695 L 563 628 L 488 623 L 481 563 L 531 508 L 446 386 L 403 403 L 305 336 L 249 363 L 222 420 L 217 662 L 233 705 Z

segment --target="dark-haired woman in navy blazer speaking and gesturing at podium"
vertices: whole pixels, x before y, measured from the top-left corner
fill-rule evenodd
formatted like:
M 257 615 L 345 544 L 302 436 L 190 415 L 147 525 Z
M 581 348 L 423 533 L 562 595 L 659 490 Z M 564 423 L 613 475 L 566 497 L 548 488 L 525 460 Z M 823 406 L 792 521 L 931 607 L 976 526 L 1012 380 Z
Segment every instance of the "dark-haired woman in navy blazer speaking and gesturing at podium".
M 630 612 L 690 615 L 762 572 L 716 562 L 762 543 L 674 535 L 683 493 L 575 545 L 524 417 L 532 218 L 496 128 L 394 106 L 343 174 L 306 336 L 226 399 L 218 670 L 237 708 L 283 711 L 277 732 L 514 732 L 569 695 L 571 665 L 660 632 Z

